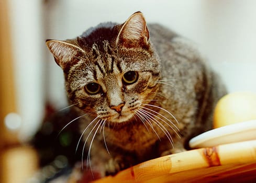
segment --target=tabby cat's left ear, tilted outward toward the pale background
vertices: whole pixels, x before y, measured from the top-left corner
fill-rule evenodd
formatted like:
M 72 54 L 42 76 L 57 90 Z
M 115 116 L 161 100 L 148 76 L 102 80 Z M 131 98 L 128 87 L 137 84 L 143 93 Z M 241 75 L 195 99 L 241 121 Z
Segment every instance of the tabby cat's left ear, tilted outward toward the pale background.
M 66 41 L 46 40 L 46 45 L 53 54 L 55 62 L 63 69 L 77 60 L 75 59 L 77 56 L 84 54 L 84 50 L 80 47 Z

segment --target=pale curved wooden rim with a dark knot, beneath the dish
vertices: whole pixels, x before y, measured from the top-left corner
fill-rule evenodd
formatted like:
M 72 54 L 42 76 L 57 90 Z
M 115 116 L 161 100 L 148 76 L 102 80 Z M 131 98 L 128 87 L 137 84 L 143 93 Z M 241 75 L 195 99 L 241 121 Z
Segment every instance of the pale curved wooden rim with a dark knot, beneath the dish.
M 143 182 L 182 171 L 256 162 L 256 140 L 199 148 L 152 159 L 93 182 Z

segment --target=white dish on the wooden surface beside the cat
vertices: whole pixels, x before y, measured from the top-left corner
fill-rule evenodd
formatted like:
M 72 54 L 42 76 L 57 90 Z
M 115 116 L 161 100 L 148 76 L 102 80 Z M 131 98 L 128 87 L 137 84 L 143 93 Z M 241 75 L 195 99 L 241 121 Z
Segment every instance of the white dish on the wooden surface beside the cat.
M 204 132 L 191 139 L 189 145 L 191 148 L 212 147 L 255 139 L 256 120 L 250 120 Z

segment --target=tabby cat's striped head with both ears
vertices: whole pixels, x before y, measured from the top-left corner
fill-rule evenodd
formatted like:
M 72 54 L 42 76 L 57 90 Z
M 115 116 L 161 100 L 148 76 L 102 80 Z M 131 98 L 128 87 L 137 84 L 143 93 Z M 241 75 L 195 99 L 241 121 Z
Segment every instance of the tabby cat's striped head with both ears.
M 140 12 L 121 25 L 108 22 L 76 39 L 46 43 L 64 71 L 70 101 L 93 117 L 130 121 L 158 91 L 160 63 Z

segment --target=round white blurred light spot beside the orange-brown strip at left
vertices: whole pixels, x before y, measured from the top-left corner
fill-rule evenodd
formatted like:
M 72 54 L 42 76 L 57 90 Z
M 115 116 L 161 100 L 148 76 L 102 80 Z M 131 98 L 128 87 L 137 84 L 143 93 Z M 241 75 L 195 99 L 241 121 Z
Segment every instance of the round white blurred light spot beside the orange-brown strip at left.
M 21 117 L 14 112 L 8 113 L 4 119 L 4 123 L 8 130 L 18 130 L 21 127 Z

